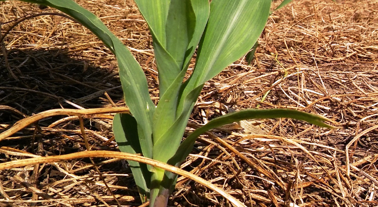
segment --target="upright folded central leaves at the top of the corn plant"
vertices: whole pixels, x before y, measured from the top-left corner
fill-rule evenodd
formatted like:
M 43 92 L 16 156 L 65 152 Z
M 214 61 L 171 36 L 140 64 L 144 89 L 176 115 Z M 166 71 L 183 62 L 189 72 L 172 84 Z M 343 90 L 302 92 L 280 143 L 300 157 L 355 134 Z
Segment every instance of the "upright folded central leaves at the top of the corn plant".
M 207 22 L 209 3 L 203 0 L 135 2 L 152 34 L 162 97 L 181 70 L 188 68 Z

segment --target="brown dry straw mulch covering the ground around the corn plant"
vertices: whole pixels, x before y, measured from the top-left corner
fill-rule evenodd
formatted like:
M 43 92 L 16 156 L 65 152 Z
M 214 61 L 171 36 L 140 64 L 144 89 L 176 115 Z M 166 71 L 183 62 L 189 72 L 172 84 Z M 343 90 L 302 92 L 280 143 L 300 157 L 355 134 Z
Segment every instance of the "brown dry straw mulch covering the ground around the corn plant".
M 77 2 L 129 47 L 157 101 L 151 38 L 134 4 Z M 58 12 L 51 8 L 0 4 L 5 35 L 1 131 L 49 109 L 124 106 L 114 55 L 87 29 L 64 16 L 38 15 Z M 299 0 L 275 11 L 252 65 L 241 59 L 209 81 L 189 127 L 218 116 L 213 105 L 218 101 L 235 109 L 292 108 L 320 114 L 337 129 L 290 119 L 258 120 L 264 135 L 228 126 L 199 138 L 182 167 L 247 206 L 377 206 L 377 16 L 375 0 Z M 87 115 L 82 130 L 79 123 L 79 116 L 62 114 L 38 120 L 0 141 L 0 162 L 85 151 L 83 131 L 91 150 L 117 151 L 112 114 Z M 0 206 L 141 204 L 127 162 L 93 161 L 96 167 L 83 158 L 0 171 Z M 178 178 L 169 204 L 229 205 L 184 177 Z

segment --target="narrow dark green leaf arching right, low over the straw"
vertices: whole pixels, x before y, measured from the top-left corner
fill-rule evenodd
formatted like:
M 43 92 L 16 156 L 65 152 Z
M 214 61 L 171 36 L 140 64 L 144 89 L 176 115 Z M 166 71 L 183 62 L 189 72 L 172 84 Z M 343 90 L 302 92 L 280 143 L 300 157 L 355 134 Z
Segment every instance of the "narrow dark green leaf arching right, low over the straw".
M 206 131 L 232 123 L 234 121 L 241 121 L 245 119 L 266 119 L 266 118 L 293 118 L 304 120 L 313 125 L 320 127 L 333 128 L 324 121 L 328 120 L 325 117 L 290 109 L 247 109 L 243 111 L 236 111 L 217 118 L 212 119 L 203 127 L 192 132 L 180 145 L 177 153 L 167 162 L 168 164 L 176 165 L 184 160 L 191 152 L 194 142 L 198 136 Z

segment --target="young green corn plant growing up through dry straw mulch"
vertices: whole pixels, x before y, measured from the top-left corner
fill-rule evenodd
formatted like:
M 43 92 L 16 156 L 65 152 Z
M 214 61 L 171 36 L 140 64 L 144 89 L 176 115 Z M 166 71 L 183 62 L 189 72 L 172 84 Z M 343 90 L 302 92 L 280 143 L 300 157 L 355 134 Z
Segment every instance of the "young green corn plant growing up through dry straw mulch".
M 138 153 L 171 165 L 191 152 L 195 139 L 207 130 L 249 118 L 296 118 L 330 127 L 324 117 L 286 110 L 245 110 L 215 118 L 183 135 L 206 81 L 246 54 L 263 31 L 271 0 L 135 0 L 150 29 L 160 100 L 152 102 L 141 66 L 124 44 L 94 14 L 72 0 L 26 0 L 54 7 L 90 29 L 115 54 L 131 114 L 116 114 L 113 132 L 123 152 Z M 287 0 L 284 1 L 286 4 Z M 195 68 L 184 76 L 196 52 Z M 129 161 L 143 201 L 166 206 L 176 175 Z

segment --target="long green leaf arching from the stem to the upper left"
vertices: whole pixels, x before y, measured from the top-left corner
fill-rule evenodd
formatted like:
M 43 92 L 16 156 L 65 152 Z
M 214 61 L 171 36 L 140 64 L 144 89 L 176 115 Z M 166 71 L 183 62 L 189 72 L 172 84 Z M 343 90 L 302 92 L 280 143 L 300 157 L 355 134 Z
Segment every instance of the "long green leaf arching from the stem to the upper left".
M 4 1 L 4 0 L 0 0 Z M 117 57 L 125 101 L 138 123 L 143 154 L 152 157 L 152 116 L 155 110 L 146 76 L 131 52 L 93 13 L 72 0 L 24 0 L 63 11 L 91 30 Z

